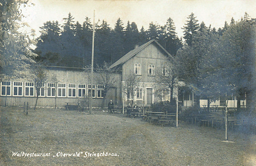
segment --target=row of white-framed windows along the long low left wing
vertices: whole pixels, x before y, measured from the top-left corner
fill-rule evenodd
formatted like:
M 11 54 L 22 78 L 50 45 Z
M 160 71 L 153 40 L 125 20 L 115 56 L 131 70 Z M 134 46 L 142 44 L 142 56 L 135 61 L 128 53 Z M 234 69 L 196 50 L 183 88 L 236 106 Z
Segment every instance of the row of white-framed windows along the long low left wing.
M 22 96 L 22 83 L 23 82 L 13 82 L 13 96 Z M 68 84 L 68 86 L 66 86 L 65 83 L 58 83 L 57 89 L 54 83 L 47 83 L 46 85 L 47 87 L 45 87 L 44 85 L 42 88 L 40 88 L 39 97 L 55 97 L 55 95 L 57 95 L 57 97 L 84 97 L 86 95 L 90 97 L 91 85 L 89 84 L 87 84 L 87 86 L 86 84 Z M 93 85 L 92 87 L 93 97 L 103 98 L 102 91 L 104 90 L 105 86 Z M 36 95 L 34 83 L 25 82 L 24 88 L 24 96 L 33 97 L 34 95 Z M 1 96 L 11 96 L 10 81 L 3 81 L 1 83 Z

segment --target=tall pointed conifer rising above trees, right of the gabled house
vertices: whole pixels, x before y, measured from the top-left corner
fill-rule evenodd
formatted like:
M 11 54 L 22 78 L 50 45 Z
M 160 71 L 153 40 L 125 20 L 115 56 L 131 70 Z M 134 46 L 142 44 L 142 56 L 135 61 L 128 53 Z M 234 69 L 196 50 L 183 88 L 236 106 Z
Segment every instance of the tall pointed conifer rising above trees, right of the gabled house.
M 194 13 L 191 13 L 189 15 L 189 17 L 187 17 L 187 19 L 188 20 L 186 21 L 185 26 L 183 26 L 184 39 L 185 39 L 186 43 L 189 46 L 191 46 L 192 40 L 193 40 L 193 35 L 199 29 L 199 23 L 198 23 L 198 20 L 196 20 Z

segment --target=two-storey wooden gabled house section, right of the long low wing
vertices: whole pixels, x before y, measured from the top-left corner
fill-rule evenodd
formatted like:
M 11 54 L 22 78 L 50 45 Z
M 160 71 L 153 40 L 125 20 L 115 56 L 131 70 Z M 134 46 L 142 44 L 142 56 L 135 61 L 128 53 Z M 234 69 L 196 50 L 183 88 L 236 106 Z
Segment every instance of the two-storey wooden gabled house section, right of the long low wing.
M 140 87 L 136 91 L 134 102 L 138 105 L 150 105 L 156 102 L 154 97 L 154 77 L 155 72 L 159 69 L 168 68 L 168 57 L 171 56 L 156 40 L 150 40 L 141 46 L 135 46 L 133 50 L 125 54 L 110 67 L 116 67 L 122 72 L 122 85 L 120 92 L 122 93 L 123 83 L 130 74 L 136 75 Z M 131 97 L 123 96 L 127 104 Z M 169 100 L 168 98 L 166 100 Z

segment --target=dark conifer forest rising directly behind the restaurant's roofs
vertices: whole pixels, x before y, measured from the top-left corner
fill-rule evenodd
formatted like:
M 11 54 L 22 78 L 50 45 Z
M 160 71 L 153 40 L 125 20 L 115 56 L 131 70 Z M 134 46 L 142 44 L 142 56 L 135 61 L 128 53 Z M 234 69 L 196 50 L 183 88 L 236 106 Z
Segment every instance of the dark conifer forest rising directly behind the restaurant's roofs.
M 92 50 L 92 29 L 90 18 L 83 23 L 74 21 L 69 13 L 60 25 L 58 21 L 47 21 L 41 29 L 41 36 L 34 52 L 38 61 L 52 66 L 82 67 L 90 65 Z M 95 64 L 114 63 L 135 45 L 142 45 L 156 39 L 170 54 L 175 55 L 183 46 L 177 37 L 172 18 L 163 26 L 149 23 L 148 29 L 137 28 L 135 22 L 124 24 L 120 18 L 112 29 L 105 20 L 98 20 L 95 27 L 94 57 Z

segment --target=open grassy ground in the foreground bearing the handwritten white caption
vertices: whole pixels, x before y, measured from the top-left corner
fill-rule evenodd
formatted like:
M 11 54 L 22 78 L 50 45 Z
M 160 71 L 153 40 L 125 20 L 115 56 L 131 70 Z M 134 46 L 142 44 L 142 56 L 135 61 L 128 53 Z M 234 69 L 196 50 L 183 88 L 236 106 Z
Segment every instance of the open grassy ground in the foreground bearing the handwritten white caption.
M 88 114 L 31 108 L 28 115 L 18 107 L 0 111 L 0 165 L 256 165 L 256 135 L 229 132 L 233 142 L 227 143 L 221 142 L 223 130 L 186 123 L 162 127 L 102 110 Z

